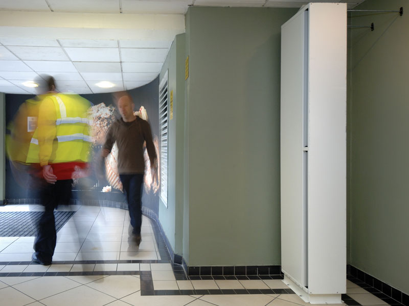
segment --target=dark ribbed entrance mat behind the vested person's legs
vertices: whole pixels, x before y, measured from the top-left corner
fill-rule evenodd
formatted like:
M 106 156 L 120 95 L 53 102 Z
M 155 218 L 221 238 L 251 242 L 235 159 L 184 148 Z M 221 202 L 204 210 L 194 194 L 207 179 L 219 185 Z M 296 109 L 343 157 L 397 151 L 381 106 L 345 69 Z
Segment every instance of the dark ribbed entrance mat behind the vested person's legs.
M 0 237 L 37 236 L 37 224 L 43 212 L 0 212 Z M 75 212 L 54 212 L 58 232 Z

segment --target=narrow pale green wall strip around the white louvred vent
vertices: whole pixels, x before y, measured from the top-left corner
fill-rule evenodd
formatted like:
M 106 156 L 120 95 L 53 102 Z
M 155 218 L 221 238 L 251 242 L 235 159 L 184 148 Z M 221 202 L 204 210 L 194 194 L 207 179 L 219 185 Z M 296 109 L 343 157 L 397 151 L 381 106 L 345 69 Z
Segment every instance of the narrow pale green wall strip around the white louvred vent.
M 185 34 L 176 35 L 159 75 L 168 71 L 168 207 L 159 199 L 159 220 L 177 254 L 183 239 L 183 163 L 185 126 Z M 170 118 L 170 92 L 173 92 L 173 118 Z

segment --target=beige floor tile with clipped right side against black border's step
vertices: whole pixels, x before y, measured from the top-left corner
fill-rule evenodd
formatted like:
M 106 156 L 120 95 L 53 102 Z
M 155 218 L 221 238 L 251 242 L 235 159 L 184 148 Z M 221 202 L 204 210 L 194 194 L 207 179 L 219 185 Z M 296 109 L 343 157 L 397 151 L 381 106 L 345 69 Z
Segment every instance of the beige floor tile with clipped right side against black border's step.
M 131 275 L 109 275 L 86 286 L 113 297 L 121 298 L 141 290 L 141 280 Z

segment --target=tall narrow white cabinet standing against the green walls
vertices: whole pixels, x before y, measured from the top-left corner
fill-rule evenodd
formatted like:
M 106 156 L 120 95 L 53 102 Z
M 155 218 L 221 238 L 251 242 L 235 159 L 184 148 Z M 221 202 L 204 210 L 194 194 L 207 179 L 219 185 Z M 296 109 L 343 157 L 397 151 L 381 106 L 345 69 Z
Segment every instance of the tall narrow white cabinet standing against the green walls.
M 347 5 L 310 3 L 281 30 L 281 265 L 310 303 L 346 292 Z

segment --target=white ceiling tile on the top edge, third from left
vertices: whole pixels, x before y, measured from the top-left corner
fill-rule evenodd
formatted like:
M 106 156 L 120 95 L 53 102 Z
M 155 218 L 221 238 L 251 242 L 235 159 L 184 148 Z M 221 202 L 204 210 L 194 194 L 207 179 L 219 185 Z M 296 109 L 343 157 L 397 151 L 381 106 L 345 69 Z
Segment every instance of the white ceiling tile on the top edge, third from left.
M 122 0 L 122 12 L 124 14 L 185 14 L 189 1 L 135 1 Z

